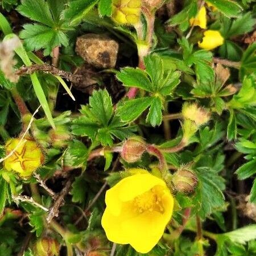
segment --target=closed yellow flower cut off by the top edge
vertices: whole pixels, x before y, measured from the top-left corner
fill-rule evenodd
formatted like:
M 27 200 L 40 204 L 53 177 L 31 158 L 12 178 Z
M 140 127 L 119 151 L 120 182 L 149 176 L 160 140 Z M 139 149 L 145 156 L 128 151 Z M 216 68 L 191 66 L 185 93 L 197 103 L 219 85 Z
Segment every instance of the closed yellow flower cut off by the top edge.
M 136 24 L 141 16 L 141 0 L 114 0 L 112 19 L 120 24 Z

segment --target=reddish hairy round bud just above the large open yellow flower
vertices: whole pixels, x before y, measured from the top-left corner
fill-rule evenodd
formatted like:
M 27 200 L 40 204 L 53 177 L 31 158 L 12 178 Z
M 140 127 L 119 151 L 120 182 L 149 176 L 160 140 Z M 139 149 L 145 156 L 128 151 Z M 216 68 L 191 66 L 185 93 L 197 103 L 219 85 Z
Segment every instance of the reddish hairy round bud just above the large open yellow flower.
M 146 143 L 137 137 L 127 139 L 123 144 L 121 156 L 127 163 L 134 163 L 141 159 L 142 154 L 146 151 Z

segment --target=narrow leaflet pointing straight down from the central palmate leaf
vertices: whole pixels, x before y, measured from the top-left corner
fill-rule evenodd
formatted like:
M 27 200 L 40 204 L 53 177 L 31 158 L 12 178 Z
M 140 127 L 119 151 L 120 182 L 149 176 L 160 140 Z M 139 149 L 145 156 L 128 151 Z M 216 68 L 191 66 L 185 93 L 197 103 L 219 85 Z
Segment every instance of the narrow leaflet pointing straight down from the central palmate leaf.
M 162 108 L 163 104 L 161 99 L 159 97 L 154 97 L 146 118 L 146 121 L 150 122 L 153 127 L 162 123 Z

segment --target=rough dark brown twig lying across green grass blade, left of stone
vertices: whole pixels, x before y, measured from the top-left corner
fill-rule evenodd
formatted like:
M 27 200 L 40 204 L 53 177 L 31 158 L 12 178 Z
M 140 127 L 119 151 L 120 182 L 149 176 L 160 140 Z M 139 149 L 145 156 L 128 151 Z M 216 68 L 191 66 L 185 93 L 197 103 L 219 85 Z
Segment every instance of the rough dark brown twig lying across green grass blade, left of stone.
M 82 81 L 81 75 L 74 75 L 71 72 L 60 70 L 60 69 L 55 68 L 52 65 L 48 65 L 48 64 L 43 64 L 43 65 L 35 64 L 35 65 L 31 65 L 29 67 L 21 67 L 15 72 L 15 74 L 19 75 L 19 76 L 23 76 L 23 75 L 32 74 L 36 71 L 43 71 L 46 73 L 51 73 L 52 75 L 63 77 L 64 79 L 67 79 L 71 82 L 77 83 L 77 82 Z

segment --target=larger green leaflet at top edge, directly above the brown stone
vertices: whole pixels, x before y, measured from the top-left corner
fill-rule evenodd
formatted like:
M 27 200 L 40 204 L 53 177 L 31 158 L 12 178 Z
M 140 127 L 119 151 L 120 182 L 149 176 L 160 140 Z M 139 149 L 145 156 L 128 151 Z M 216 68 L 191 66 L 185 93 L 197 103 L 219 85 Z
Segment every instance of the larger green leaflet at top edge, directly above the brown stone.
M 74 0 L 69 2 L 69 8 L 64 11 L 64 18 L 69 20 L 70 26 L 77 26 L 98 0 Z

